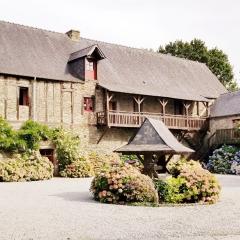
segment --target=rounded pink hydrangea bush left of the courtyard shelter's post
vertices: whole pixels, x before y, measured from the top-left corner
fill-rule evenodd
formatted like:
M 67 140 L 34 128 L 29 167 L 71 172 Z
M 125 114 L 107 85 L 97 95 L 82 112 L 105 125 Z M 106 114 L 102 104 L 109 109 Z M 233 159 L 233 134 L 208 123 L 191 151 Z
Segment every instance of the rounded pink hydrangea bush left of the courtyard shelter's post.
M 114 165 L 92 181 L 94 199 L 103 203 L 158 203 L 152 180 L 129 164 Z

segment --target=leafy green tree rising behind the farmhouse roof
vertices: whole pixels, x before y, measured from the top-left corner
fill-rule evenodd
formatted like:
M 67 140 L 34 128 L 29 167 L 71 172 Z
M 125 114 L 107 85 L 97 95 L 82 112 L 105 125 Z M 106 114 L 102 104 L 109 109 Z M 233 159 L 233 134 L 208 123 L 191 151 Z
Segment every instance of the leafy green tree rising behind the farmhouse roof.
M 216 47 L 208 49 L 200 39 L 193 39 L 191 42 L 170 42 L 164 47 L 160 46 L 158 52 L 205 63 L 228 90 L 238 89 L 228 56 Z

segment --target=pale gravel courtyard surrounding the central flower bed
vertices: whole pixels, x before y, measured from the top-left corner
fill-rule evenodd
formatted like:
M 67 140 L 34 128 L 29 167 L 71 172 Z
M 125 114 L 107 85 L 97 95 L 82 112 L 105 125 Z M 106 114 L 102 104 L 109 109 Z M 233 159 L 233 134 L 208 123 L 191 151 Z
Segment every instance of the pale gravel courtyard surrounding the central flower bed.
M 129 207 L 91 199 L 91 179 L 0 183 L 1 240 L 240 239 L 240 177 L 210 206 Z

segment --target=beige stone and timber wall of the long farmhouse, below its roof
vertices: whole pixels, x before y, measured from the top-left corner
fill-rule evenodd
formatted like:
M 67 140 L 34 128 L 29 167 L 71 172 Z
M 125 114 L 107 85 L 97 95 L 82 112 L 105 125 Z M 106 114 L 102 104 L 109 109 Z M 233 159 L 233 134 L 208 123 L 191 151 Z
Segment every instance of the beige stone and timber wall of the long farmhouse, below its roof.
M 0 76 L 0 115 L 19 128 L 27 119 L 33 119 L 51 127 L 63 126 L 80 136 L 85 148 L 114 150 L 127 143 L 134 129 L 97 127 L 96 112 L 105 109 L 102 88 L 96 80 L 70 83 L 34 78 Z M 29 89 L 29 106 L 19 106 L 19 87 Z M 95 111 L 85 112 L 84 97 L 95 98 Z M 115 93 L 119 111 L 134 111 L 133 96 Z M 204 109 L 204 108 L 203 108 Z M 142 111 L 161 113 L 162 108 L 154 97 L 146 97 Z M 196 105 L 192 105 L 196 112 Z M 169 99 L 166 113 L 174 114 L 174 101 Z M 204 114 L 204 112 L 203 112 Z

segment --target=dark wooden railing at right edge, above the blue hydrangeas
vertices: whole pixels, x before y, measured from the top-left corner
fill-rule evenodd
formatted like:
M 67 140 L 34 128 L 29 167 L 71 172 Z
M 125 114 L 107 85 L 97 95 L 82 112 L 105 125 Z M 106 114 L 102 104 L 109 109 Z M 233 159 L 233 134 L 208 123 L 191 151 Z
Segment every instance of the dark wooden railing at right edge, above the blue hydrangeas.
M 240 144 L 240 131 L 237 129 L 218 129 L 210 139 L 210 146 L 222 144 Z

